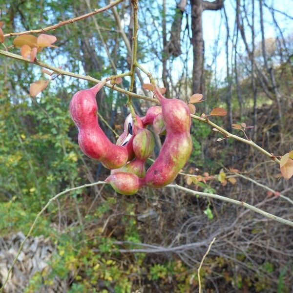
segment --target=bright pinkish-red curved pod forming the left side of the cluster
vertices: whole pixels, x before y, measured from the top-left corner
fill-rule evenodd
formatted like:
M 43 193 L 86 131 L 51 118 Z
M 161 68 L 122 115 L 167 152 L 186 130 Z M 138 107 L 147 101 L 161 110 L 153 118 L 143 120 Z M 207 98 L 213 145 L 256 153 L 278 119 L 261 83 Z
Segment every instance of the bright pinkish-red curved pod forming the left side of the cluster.
M 78 91 L 71 99 L 69 111 L 78 127 L 78 142 L 84 154 L 101 161 L 109 169 L 115 169 L 126 164 L 128 152 L 126 145 L 113 144 L 99 126 L 96 93 L 104 84 L 105 81 L 90 89 Z

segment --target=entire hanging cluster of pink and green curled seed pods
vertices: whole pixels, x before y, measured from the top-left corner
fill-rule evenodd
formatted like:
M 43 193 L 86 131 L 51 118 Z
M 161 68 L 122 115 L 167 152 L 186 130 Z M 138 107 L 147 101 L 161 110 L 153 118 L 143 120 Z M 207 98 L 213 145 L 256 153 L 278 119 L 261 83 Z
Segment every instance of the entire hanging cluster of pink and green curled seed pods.
M 192 151 L 191 118 L 186 103 L 166 99 L 156 87 L 154 94 L 161 107 L 150 107 L 145 117 L 136 115 L 135 121 L 129 114 L 123 134 L 113 144 L 99 126 L 97 117 L 95 96 L 104 84 L 77 92 L 70 102 L 70 114 L 78 127 L 78 142 L 84 154 L 111 169 L 105 182 L 121 194 L 131 195 L 143 186 L 160 188 L 171 183 Z M 147 125 L 166 138 L 157 159 L 146 170 L 146 159 L 155 145 Z

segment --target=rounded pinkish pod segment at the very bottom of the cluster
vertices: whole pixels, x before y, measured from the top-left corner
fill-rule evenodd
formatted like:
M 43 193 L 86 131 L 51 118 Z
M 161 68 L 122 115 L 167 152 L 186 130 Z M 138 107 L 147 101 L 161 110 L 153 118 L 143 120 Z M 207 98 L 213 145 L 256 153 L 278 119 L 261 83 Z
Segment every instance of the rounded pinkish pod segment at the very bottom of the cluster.
M 132 173 L 115 172 L 106 180 L 117 192 L 125 195 L 132 195 L 142 186 L 141 179 Z

